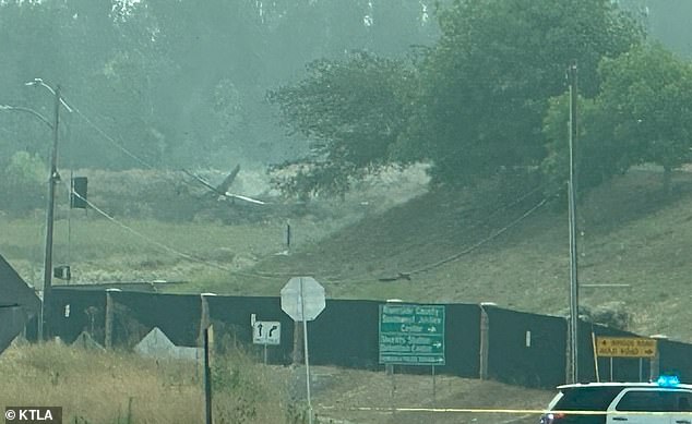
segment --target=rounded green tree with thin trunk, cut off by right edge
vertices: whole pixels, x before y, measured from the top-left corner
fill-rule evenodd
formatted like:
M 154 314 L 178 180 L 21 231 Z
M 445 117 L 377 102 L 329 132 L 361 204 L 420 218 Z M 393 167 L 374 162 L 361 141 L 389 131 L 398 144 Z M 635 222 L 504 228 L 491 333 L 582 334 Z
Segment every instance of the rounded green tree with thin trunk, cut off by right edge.
M 692 64 L 660 45 L 642 46 L 605 60 L 600 113 L 631 163 L 664 168 L 664 190 L 672 170 L 692 159 Z

